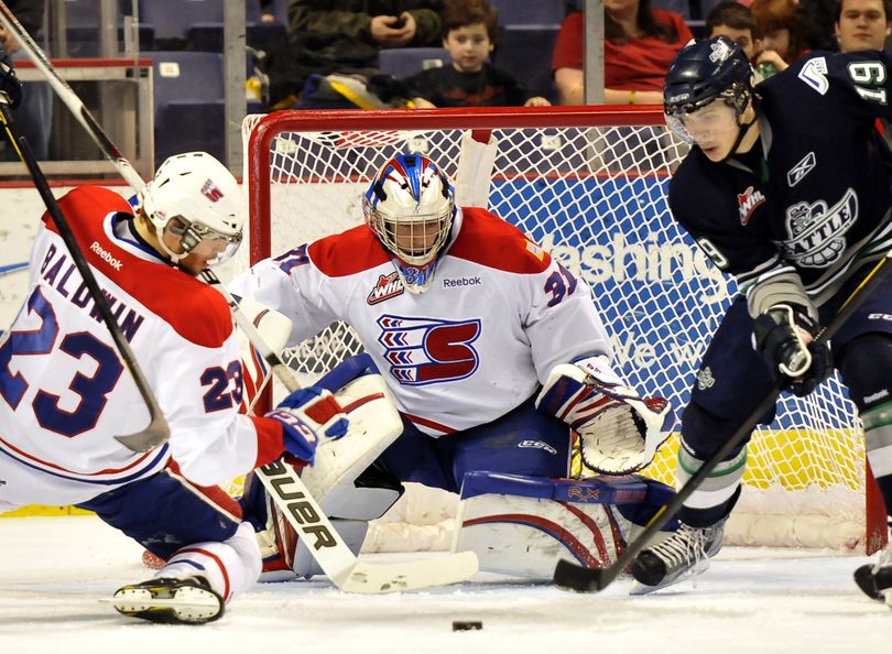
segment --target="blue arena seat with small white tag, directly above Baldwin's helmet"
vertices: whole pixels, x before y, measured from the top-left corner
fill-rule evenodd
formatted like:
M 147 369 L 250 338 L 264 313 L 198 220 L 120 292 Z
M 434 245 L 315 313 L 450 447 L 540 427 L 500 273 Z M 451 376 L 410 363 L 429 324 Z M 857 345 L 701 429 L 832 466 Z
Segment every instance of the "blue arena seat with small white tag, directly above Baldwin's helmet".
M 211 52 L 144 52 L 152 59 L 155 161 L 204 150 L 225 159 L 222 55 Z

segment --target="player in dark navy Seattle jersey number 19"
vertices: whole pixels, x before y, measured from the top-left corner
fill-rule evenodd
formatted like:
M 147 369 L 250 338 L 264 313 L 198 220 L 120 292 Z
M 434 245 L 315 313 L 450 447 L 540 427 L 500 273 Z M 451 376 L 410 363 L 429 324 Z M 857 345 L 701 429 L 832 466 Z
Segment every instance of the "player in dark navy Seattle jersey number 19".
M 670 208 L 740 287 L 700 363 L 698 380 L 711 383 L 695 384 L 684 410 L 678 483 L 777 381 L 805 395 L 835 367 L 892 508 L 892 277 L 830 347 L 812 342 L 892 247 L 892 155 L 874 128 L 892 118 L 890 67 L 889 51 L 813 53 L 753 88 L 749 61 L 722 36 L 688 45 L 670 67 L 666 120 L 694 145 L 670 183 Z M 685 502 L 681 528 L 637 557 L 643 590 L 707 567 L 746 462 L 741 446 Z M 867 573 L 862 588 L 892 607 L 892 549 Z

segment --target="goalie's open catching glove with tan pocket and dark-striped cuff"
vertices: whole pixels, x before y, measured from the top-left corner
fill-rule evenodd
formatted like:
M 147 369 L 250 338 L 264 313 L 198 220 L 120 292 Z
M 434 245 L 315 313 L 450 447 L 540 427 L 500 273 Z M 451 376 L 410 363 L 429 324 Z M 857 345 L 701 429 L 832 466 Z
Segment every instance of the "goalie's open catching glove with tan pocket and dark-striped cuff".
M 536 408 L 575 429 L 585 466 L 606 475 L 629 475 L 648 466 L 674 421 L 666 400 L 641 397 L 601 357 L 555 366 Z

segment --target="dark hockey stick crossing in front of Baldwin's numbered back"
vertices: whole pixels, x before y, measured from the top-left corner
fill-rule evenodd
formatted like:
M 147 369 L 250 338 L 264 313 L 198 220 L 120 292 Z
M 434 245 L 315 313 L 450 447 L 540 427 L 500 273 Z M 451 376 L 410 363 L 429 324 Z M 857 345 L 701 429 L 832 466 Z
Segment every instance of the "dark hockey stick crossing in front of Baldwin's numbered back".
M 149 417 L 151 419 L 145 429 L 134 434 L 116 436 L 115 438 L 133 451 L 146 451 L 155 448 L 171 437 L 171 429 L 167 426 L 167 422 L 164 419 L 161 407 L 149 388 L 149 382 L 142 372 L 142 368 L 140 368 L 139 363 L 137 362 L 133 350 L 130 349 L 130 344 L 127 342 L 123 334 L 121 334 L 120 327 L 118 327 L 118 323 L 115 320 L 115 316 L 111 314 L 111 307 L 109 307 L 108 299 L 106 299 L 105 294 L 102 293 L 101 288 L 99 288 L 96 276 L 93 274 L 93 271 L 87 263 L 87 259 L 84 257 L 84 251 L 77 243 L 77 239 L 75 238 L 68 221 L 62 214 L 62 209 L 59 209 L 56 199 L 53 197 L 53 192 L 50 190 L 50 184 L 46 182 L 43 171 L 37 164 L 37 161 L 34 159 L 34 154 L 31 152 L 28 141 L 24 139 L 24 137 L 19 137 L 17 139 L 15 128 L 12 121 L 12 111 L 9 108 L 6 96 L 2 94 L 0 94 L 0 117 L 3 122 L 3 129 L 9 135 L 10 143 L 12 143 L 12 145 L 15 148 L 15 152 L 21 157 L 22 163 L 24 163 L 24 165 L 28 167 L 28 172 L 30 173 L 31 178 L 34 181 L 34 186 L 41 194 L 43 204 L 46 205 L 46 211 L 53 219 L 62 240 L 65 241 L 65 246 L 68 248 L 68 253 L 72 255 L 72 260 L 77 266 L 77 270 L 84 280 L 84 284 L 87 286 L 96 307 L 99 309 L 102 321 L 106 324 L 106 327 L 108 327 L 108 330 L 111 334 L 111 339 L 115 341 L 115 346 L 118 348 L 118 353 L 121 356 L 121 360 L 130 371 L 133 382 L 137 384 L 137 389 L 139 390 L 140 395 L 142 395 L 145 406 L 149 408 Z

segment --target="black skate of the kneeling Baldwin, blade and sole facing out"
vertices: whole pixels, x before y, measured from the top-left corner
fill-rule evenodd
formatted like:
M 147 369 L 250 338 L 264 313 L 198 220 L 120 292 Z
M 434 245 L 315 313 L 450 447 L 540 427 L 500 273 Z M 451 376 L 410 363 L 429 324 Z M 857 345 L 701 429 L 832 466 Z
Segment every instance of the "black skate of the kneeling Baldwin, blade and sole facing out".
M 165 624 L 202 624 L 224 614 L 224 600 L 204 577 L 151 579 L 119 588 L 111 598 L 119 613 Z

